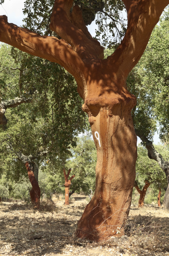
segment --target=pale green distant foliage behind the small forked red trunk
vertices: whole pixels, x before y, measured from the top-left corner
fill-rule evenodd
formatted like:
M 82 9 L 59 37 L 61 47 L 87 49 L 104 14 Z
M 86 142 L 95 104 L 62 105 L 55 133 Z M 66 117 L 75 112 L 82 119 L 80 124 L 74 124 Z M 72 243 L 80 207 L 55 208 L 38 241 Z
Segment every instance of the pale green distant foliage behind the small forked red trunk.
M 65 154 L 62 157 L 56 157 L 55 160 L 47 160 L 41 166 L 42 175 L 40 184 L 45 182 L 46 187 L 44 193 L 50 197 L 50 193 L 65 194 L 63 169 L 71 167 L 75 178 L 71 181 L 70 195 L 73 193 L 85 192 L 86 195 L 91 194 L 91 190 L 95 190 L 95 168 L 96 168 L 96 148 L 93 140 L 89 137 L 79 137 L 77 146 L 70 148 L 71 155 Z

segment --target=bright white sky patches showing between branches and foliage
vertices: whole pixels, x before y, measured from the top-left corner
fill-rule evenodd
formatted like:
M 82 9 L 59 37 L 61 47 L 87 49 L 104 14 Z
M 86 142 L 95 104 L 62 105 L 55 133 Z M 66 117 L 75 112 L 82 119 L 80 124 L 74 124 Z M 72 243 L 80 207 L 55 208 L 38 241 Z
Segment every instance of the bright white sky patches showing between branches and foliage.
M 5 0 L 5 3 L 0 6 L 0 15 L 6 15 L 8 17 L 9 23 L 14 23 L 17 26 L 23 25 L 23 11 L 24 8 L 24 0 Z M 95 35 L 95 24 L 94 22 L 87 26 L 91 35 Z M 154 143 L 158 144 L 160 142 L 158 133 L 155 133 L 153 138 Z M 137 144 L 141 143 L 140 138 L 138 138 Z

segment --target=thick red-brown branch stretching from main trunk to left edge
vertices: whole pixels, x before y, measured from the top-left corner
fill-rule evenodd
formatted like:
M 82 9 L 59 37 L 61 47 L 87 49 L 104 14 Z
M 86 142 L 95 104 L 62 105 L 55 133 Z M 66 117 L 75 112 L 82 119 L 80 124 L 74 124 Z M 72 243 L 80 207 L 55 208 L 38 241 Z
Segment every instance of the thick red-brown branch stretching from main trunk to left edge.
M 41 36 L 28 29 L 8 23 L 5 15 L 0 16 L 0 41 L 17 47 L 23 52 L 56 62 L 72 74 L 77 83 L 82 84 L 80 70 L 84 63 L 79 55 L 64 40 Z

